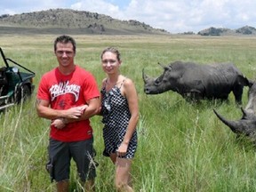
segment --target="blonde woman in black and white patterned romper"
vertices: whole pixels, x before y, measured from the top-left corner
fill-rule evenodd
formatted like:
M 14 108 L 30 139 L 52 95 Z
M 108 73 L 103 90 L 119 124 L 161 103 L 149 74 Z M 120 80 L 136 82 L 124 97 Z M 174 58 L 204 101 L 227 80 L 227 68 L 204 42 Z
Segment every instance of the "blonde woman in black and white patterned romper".
M 117 191 L 133 191 L 132 158 L 137 148 L 138 97 L 132 80 L 120 74 L 120 53 L 113 47 L 101 53 L 101 64 L 108 75 L 102 81 L 101 115 L 104 125 L 104 156 L 116 164 Z

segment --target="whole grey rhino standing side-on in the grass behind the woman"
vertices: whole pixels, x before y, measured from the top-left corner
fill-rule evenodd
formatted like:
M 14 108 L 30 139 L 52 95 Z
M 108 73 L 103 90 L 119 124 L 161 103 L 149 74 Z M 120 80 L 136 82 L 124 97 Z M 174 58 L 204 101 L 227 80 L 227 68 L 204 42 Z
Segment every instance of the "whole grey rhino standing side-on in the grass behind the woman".
M 172 90 L 186 100 L 228 100 L 233 92 L 236 103 L 242 103 L 246 77 L 233 63 L 200 65 L 194 62 L 174 61 L 157 77 L 148 77 L 142 69 L 144 92 L 159 94 Z

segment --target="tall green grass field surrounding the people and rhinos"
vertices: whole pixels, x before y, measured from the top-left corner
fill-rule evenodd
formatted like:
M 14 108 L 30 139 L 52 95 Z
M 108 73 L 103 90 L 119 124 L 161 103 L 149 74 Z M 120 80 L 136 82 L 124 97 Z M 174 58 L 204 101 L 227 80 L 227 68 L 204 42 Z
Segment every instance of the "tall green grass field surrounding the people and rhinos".
M 7 57 L 36 72 L 35 84 L 57 66 L 53 54 L 56 36 L 0 36 Z M 176 92 L 146 95 L 142 68 L 159 76 L 158 62 L 195 61 L 200 64 L 232 61 L 245 76 L 256 76 L 256 37 L 252 36 L 74 36 L 76 63 L 100 82 L 105 77 L 100 53 L 107 46 L 121 52 L 121 72 L 136 84 L 140 97 L 139 148 L 132 164 L 135 191 L 215 192 L 256 191 L 255 148 L 214 115 L 228 119 L 242 116 L 233 93 L 229 102 L 203 100 L 188 103 Z M 243 107 L 248 88 L 244 88 Z M 36 116 L 36 92 L 31 100 L 0 115 L 0 191 L 55 191 L 44 169 L 47 161 L 49 121 Z M 101 155 L 100 116 L 92 117 L 97 170 L 96 188 L 112 192 L 115 167 Z M 78 191 L 72 164 L 70 191 Z

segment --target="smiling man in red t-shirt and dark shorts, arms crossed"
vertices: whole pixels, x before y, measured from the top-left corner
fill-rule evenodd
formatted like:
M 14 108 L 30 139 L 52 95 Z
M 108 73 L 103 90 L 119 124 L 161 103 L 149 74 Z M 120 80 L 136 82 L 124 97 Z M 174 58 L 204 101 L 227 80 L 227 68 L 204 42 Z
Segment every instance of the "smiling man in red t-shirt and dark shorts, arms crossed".
M 36 96 L 38 116 L 52 121 L 46 168 L 57 190 L 68 191 L 73 158 L 85 191 L 93 191 L 96 171 L 89 118 L 99 113 L 100 92 L 92 74 L 74 63 L 76 42 L 71 36 L 57 37 L 54 53 L 59 66 L 42 76 Z

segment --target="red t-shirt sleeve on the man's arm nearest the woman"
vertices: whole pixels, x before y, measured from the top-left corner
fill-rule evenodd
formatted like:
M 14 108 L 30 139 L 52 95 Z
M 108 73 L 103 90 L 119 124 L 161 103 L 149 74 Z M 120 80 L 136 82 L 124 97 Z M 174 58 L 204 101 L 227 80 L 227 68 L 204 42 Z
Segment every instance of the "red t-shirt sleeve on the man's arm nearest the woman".
M 92 100 L 96 97 L 100 97 L 98 84 L 94 76 L 92 76 L 92 74 L 89 73 L 86 80 L 84 81 L 84 99 Z

